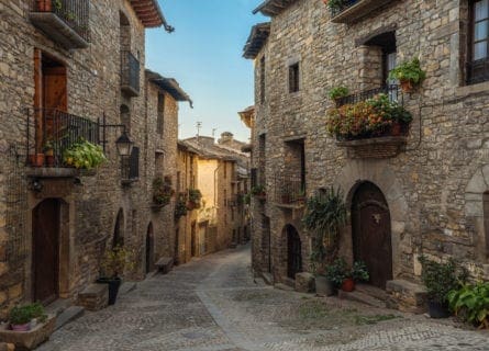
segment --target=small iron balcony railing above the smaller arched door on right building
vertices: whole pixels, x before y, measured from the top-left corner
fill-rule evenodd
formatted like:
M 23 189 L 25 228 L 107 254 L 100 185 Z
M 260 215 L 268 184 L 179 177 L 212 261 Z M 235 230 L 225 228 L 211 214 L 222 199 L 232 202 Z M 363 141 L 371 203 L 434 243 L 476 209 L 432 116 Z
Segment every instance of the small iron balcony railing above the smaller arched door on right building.
M 275 202 L 282 205 L 303 204 L 305 181 L 298 176 L 277 176 L 275 179 Z

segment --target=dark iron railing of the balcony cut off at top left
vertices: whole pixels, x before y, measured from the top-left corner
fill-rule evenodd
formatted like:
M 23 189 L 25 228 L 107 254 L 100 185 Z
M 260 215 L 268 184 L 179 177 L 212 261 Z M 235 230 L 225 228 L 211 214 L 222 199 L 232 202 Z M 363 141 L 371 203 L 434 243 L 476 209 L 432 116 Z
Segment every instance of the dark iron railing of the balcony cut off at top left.
M 33 12 L 55 13 L 79 36 L 90 41 L 89 0 L 32 0 Z

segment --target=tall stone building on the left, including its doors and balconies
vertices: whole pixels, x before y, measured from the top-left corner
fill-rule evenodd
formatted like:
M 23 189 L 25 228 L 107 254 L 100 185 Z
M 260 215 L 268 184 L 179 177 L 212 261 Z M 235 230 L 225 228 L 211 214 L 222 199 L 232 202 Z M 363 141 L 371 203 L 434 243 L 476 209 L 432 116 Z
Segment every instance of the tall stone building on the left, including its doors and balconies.
M 173 227 L 160 224 L 169 215 L 156 219 L 148 190 L 156 173 L 176 177 L 182 97 L 144 69 L 145 30 L 173 31 L 154 0 L 0 0 L 0 22 L 2 318 L 21 301 L 76 301 L 114 245 L 136 249 L 136 279 L 147 238 L 155 256 L 173 256 Z M 104 149 L 96 171 L 64 163 L 82 139 Z

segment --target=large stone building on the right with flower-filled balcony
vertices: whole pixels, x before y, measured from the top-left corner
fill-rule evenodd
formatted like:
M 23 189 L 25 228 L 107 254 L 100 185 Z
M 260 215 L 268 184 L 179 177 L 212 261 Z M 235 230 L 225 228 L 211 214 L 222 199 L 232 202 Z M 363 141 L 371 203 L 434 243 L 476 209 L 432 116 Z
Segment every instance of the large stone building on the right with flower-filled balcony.
M 244 49 L 255 61 L 253 167 L 267 194 L 253 201 L 254 269 L 275 282 L 309 270 L 302 202 L 282 194 L 333 185 L 349 210 L 341 254 L 365 260 L 375 285 L 414 286 L 420 254 L 455 257 L 488 279 L 487 1 L 356 0 L 332 12 L 267 0 L 256 12 L 270 22 Z M 413 57 L 422 86 L 386 91 L 389 70 Z M 325 116 L 340 86 L 353 93 L 345 101 L 385 91 L 403 104 L 407 136 L 335 140 Z

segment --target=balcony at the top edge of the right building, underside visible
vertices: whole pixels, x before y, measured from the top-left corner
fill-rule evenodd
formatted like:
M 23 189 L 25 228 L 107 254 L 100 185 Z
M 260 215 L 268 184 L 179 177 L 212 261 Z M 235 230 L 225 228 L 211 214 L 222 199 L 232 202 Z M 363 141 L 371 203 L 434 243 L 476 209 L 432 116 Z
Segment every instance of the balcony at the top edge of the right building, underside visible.
M 331 22 L 353 23 L 392 0 L 343 0 L 342 4 L 331 9 Z

